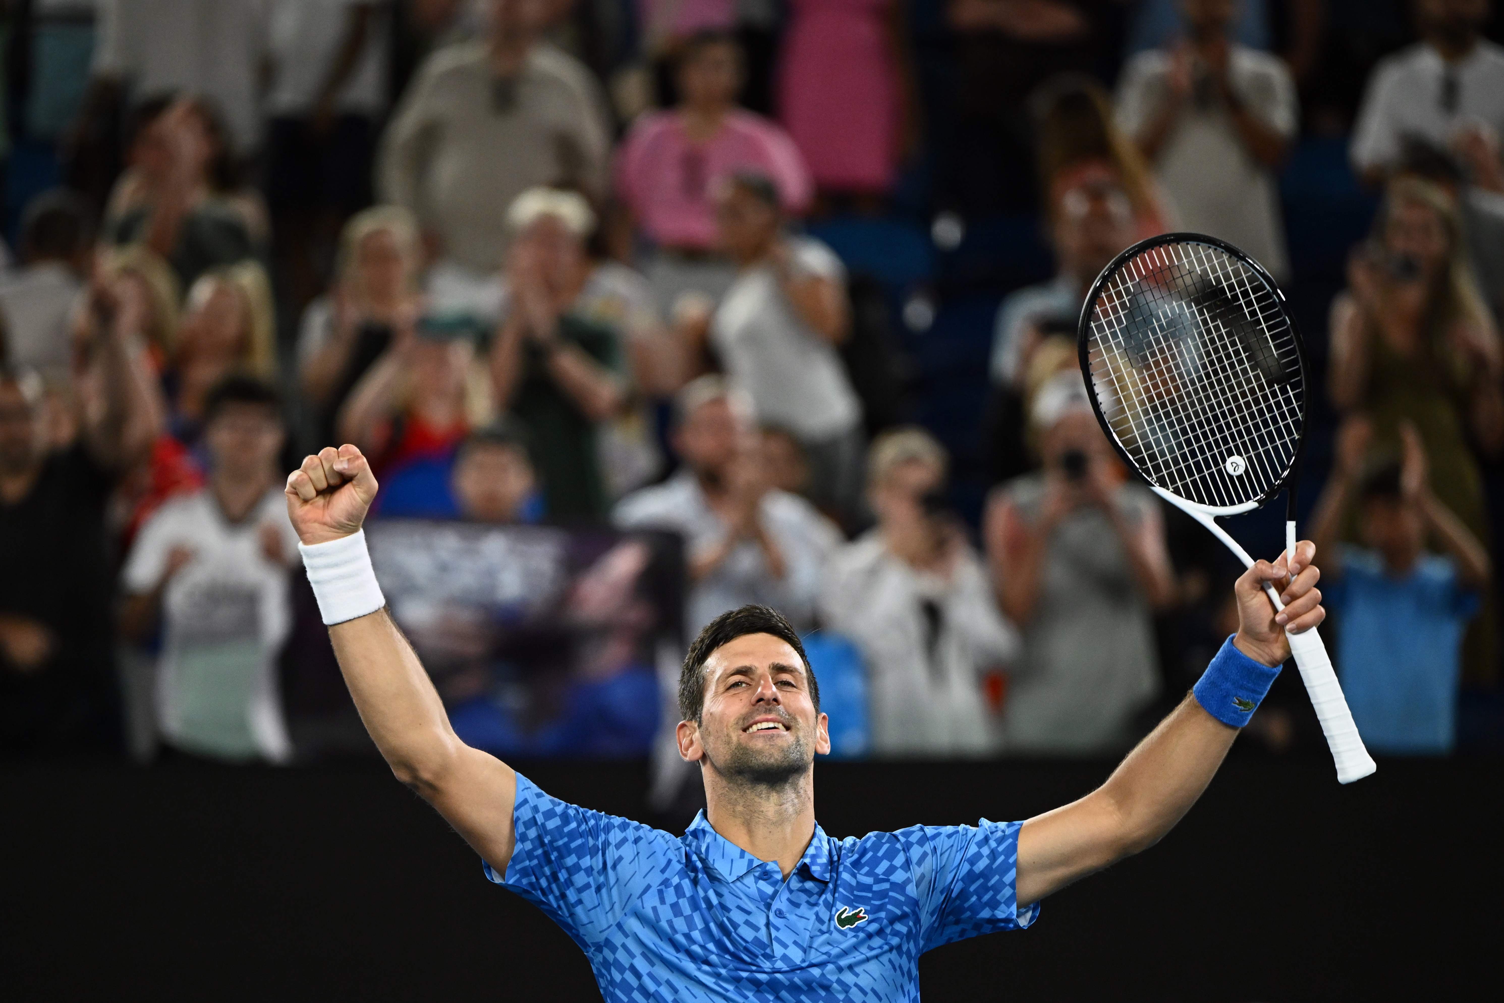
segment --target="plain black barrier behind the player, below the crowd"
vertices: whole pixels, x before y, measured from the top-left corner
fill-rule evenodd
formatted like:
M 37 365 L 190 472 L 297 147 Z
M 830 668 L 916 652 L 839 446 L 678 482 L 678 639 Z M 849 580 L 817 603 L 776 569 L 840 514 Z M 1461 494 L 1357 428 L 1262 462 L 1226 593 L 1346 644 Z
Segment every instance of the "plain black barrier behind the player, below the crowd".
M 644 764 L 520 768 L 642 817 Z M 838 836 L 1024 818 L 1108 770 L 832 762 L 817 803 Z M 1154 850 L 1029 931 L 925 955 L 925 1000 L 1493 997 L 1501 780 L 1498 759 L 1384 761 L 1340 786 L 1330 761 L 1235 749 Z M 600 998 L 569 937 L 379 765 L 8 764 L 0 797 L 0 997 Z

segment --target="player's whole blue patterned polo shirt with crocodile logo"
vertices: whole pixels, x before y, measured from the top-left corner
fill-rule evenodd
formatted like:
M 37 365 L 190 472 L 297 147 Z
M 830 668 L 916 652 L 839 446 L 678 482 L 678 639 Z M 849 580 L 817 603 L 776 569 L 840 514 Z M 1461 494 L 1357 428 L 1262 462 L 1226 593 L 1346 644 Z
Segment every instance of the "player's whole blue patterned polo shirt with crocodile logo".
M 505 877 L 590 956 L 608 1003 L 919 1000 L 919 955 L 1029 926 L 1021 823 L 835 839 L 818 826 L 784 880 L 704 814 L 681 838 L 549 797 L 517 774 Z

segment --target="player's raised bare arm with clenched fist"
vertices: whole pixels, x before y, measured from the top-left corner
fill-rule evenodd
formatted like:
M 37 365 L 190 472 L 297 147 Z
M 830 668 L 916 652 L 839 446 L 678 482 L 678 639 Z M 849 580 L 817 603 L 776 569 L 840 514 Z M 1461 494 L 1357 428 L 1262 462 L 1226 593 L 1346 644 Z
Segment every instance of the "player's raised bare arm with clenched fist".
M 325 448 L 287 477 L 287 514 L 305 547 L 340 541 L 349 547 L 353 541 L 347 538 L 359 532 L 373 498 L 376 477 L 353 445 Z M 310 567 L 317 559 L 305 555 Z M 352 561 L 367 561 L 364 540 Z M 329 580 L 320 585 L 331 588 L 337 591 Z M 319 598 L 322 606 L 325 591 Z M 393 774 L 439 809 L 486 863 L 505 874 L 517 794 L 511 767 L 459 740 L 429 674 L 385 608 L 332 624 L 329 641 L 361 720 Z

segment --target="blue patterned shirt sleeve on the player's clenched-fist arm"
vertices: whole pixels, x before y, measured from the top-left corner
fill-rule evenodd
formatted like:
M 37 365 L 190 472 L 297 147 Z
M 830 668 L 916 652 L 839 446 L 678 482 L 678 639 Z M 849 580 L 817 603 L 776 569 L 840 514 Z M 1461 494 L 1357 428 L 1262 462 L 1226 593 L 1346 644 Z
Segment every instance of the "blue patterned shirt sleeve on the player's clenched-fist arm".
M 575 943 L 590 947 L 654 883 L 681 863 L 668 833 L 549 797 L 517 774 L 517 845 L 505 875 L 486 877 L 535 904 Z

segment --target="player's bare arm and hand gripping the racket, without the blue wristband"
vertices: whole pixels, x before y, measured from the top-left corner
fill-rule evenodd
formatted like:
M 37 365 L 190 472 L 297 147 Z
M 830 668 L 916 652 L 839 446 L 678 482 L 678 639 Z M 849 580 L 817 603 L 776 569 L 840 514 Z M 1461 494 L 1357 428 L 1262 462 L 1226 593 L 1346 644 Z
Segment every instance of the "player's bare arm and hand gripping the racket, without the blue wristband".
M 1311 564 L 1316 547 L 1295 547 L 1295 580 L 1287 582 L 1284 555 L 1274 564 L 1256 562 L 1238 579 L 1236 648 L 1265 666 L 1290 657 L 1286 623 L 1296 633 L 1325 618 Z M 1262 591 L 1263 582 L 1284 582 L 1284 612 Z M 1107 783 L 1086 797 L 1024 823 L 1018 835 L 1018 902 L 1038 902 L 1066 884 L 1148 850 L 1202 795 L 1238 729 L 1206 713 L 1187 696 L 1128 753 Z

